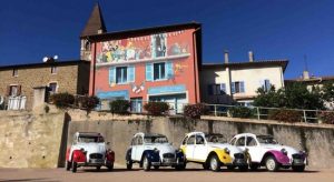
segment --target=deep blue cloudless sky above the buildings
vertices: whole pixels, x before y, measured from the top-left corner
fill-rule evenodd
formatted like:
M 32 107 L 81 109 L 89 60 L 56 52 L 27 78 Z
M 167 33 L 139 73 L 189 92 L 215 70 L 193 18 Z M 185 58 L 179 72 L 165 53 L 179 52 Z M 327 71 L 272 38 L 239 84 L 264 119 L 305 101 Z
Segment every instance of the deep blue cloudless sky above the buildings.
M 11 0 L 0 6 L 0 65 L 79 58 L 79 34 L 97 0 Z M 197 21 L 204 62 L 289 59 L 285 78 L 304 69 L 334 75 L 333 0 L 100 0 L 108 31 Z

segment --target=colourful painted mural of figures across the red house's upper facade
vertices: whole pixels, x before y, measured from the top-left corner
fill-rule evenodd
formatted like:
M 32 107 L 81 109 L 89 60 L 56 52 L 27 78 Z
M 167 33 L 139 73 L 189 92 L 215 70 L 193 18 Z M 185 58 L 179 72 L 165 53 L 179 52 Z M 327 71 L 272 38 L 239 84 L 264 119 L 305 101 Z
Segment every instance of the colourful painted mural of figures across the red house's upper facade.
M 168 42 L 168 39 L 181 33 L 184 31 L 101 42 L 97 52 L 97 65 L 188 54 L 188 42 Z

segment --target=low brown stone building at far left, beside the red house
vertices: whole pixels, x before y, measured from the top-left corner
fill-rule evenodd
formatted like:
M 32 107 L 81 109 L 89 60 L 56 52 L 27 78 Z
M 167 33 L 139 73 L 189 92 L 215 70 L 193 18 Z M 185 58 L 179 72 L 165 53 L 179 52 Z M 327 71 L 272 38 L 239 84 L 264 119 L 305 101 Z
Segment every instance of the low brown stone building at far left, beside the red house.
M 2 109 L 31 110 L 36 89 L 87 94 L 89 61 L 51 61 L 0 67 Z

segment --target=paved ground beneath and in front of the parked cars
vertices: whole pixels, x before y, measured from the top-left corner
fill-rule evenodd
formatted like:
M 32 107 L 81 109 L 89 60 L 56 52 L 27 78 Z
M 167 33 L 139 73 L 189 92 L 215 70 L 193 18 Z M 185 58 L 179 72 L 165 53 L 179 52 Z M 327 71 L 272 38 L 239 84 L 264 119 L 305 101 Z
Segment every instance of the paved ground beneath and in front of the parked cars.
M 186 171 L 175 171 L 169 168 L 158 171 L 145 172 L 139 169 L 127 171 L 124 168 L 116 168 L 112 172 L 101 169 L 96 172 L 92 169 L 79 169 L 77 173 L 67 172 L 65 169 L 0 169 L 0 182 L 2 181 L 120 181 L 120 182 L 333 182 L 334 170 L 310 170 L 303 173 L 291 172 L 222 172 L 204 171 L 193 166 Z

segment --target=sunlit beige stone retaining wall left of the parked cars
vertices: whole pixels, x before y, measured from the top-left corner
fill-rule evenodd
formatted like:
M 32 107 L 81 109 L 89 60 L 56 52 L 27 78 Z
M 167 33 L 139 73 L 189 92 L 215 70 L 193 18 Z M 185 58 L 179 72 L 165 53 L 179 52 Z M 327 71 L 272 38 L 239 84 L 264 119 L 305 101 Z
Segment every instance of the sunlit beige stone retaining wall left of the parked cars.
M 63 113 L 0 111 L 1 168 L 57 168 Z

